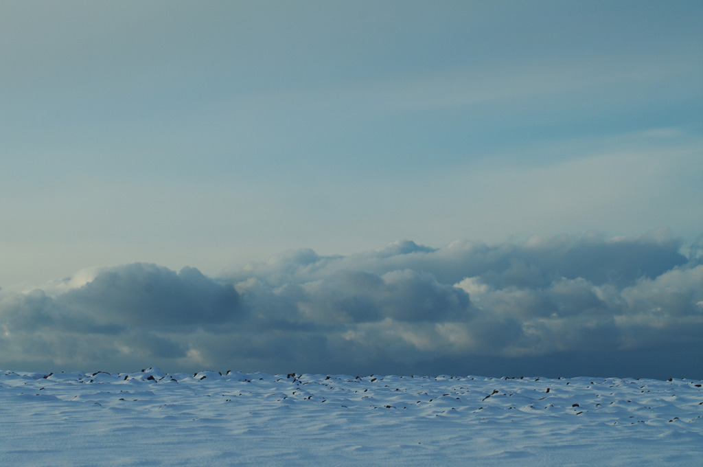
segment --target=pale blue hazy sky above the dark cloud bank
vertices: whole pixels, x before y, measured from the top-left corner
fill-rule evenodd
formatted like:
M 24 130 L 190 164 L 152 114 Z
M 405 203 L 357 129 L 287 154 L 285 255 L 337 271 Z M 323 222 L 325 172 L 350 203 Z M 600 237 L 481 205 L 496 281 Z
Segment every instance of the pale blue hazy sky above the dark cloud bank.
M 3 4 L 1 293 L 403 239 L 699 242 L 701 24 L 699 1 Z

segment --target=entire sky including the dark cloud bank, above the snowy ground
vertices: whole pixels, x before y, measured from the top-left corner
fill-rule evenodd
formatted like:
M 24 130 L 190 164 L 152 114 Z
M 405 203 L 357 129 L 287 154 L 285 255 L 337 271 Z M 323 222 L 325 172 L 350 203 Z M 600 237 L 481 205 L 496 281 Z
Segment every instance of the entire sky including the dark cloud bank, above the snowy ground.
M 0 365 L 701 378 L 702 24 L 6 2 Z

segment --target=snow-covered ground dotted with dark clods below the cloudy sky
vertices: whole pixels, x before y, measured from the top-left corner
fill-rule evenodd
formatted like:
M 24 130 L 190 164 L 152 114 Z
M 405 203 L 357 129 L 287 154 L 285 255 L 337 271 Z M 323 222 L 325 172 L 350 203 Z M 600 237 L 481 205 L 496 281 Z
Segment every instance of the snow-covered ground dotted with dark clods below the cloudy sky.
M 6 466 L 698 465 L 698 380 L 0 374 Z

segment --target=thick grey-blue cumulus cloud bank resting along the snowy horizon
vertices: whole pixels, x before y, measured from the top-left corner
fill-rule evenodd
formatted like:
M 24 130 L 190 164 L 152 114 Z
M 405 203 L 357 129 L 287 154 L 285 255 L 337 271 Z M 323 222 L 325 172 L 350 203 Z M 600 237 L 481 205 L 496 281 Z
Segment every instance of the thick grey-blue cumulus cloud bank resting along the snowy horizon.
M 11 369 L 703 377 L 703 264 L 665 233 L 155 264 L 0 295 Z

